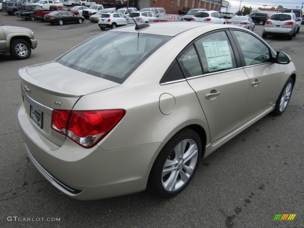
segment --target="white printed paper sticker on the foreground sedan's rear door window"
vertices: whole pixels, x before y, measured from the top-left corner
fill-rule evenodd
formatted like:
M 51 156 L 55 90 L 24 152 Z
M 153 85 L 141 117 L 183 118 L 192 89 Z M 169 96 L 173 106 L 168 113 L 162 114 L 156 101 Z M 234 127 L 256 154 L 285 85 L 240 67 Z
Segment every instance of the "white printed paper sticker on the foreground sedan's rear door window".
M 209 72 L 233 67 L 227 40 L 203 42 L 202 44 Z

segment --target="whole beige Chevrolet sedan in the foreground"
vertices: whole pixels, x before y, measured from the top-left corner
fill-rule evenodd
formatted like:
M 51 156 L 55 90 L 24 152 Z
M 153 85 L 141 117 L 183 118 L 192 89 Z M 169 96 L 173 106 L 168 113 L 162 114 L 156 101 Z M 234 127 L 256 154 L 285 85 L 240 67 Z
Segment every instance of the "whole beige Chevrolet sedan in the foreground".
M 184 22 L 112 29 L 19 75 L 28 157 L 82 200 L 178 194 L 203 158 L 281 115 L 296 80 L 248 29 Z

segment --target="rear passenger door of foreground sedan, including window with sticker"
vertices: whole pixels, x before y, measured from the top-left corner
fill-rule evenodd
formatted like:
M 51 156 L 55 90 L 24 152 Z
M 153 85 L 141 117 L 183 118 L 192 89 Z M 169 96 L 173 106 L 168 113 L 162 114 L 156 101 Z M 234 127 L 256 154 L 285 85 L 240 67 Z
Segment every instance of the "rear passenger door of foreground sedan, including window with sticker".
M 242 124 L 249 79 L 225 30 L 197 39 L 179 57 L 206 116 L 211 142 Z

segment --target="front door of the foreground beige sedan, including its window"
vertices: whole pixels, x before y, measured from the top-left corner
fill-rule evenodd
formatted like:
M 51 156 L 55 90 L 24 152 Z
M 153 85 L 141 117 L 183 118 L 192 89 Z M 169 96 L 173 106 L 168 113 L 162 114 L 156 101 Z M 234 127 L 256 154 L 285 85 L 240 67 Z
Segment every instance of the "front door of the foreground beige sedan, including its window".
M 284 72 L 272 63 L 270 48 L 257 36 L 244 31 L 232 31 L 239 45 L 244 71 L 249 77 L 248 99 L 244 121 L 271 109 L 277 100 L 280 78 Z

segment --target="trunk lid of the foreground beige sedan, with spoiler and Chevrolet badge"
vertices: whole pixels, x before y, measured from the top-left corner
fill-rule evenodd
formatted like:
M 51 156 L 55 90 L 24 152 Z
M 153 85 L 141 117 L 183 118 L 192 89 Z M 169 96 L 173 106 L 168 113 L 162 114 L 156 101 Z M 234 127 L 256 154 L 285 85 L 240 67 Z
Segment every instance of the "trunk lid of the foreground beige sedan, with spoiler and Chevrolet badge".
M 51 129 L 54 109 L 72 110 L 81 96 L 120 84 L 76 71 L 55 61 L 19 70 L 28 118 L 47 139 L 62 145 L 65 136 Z

